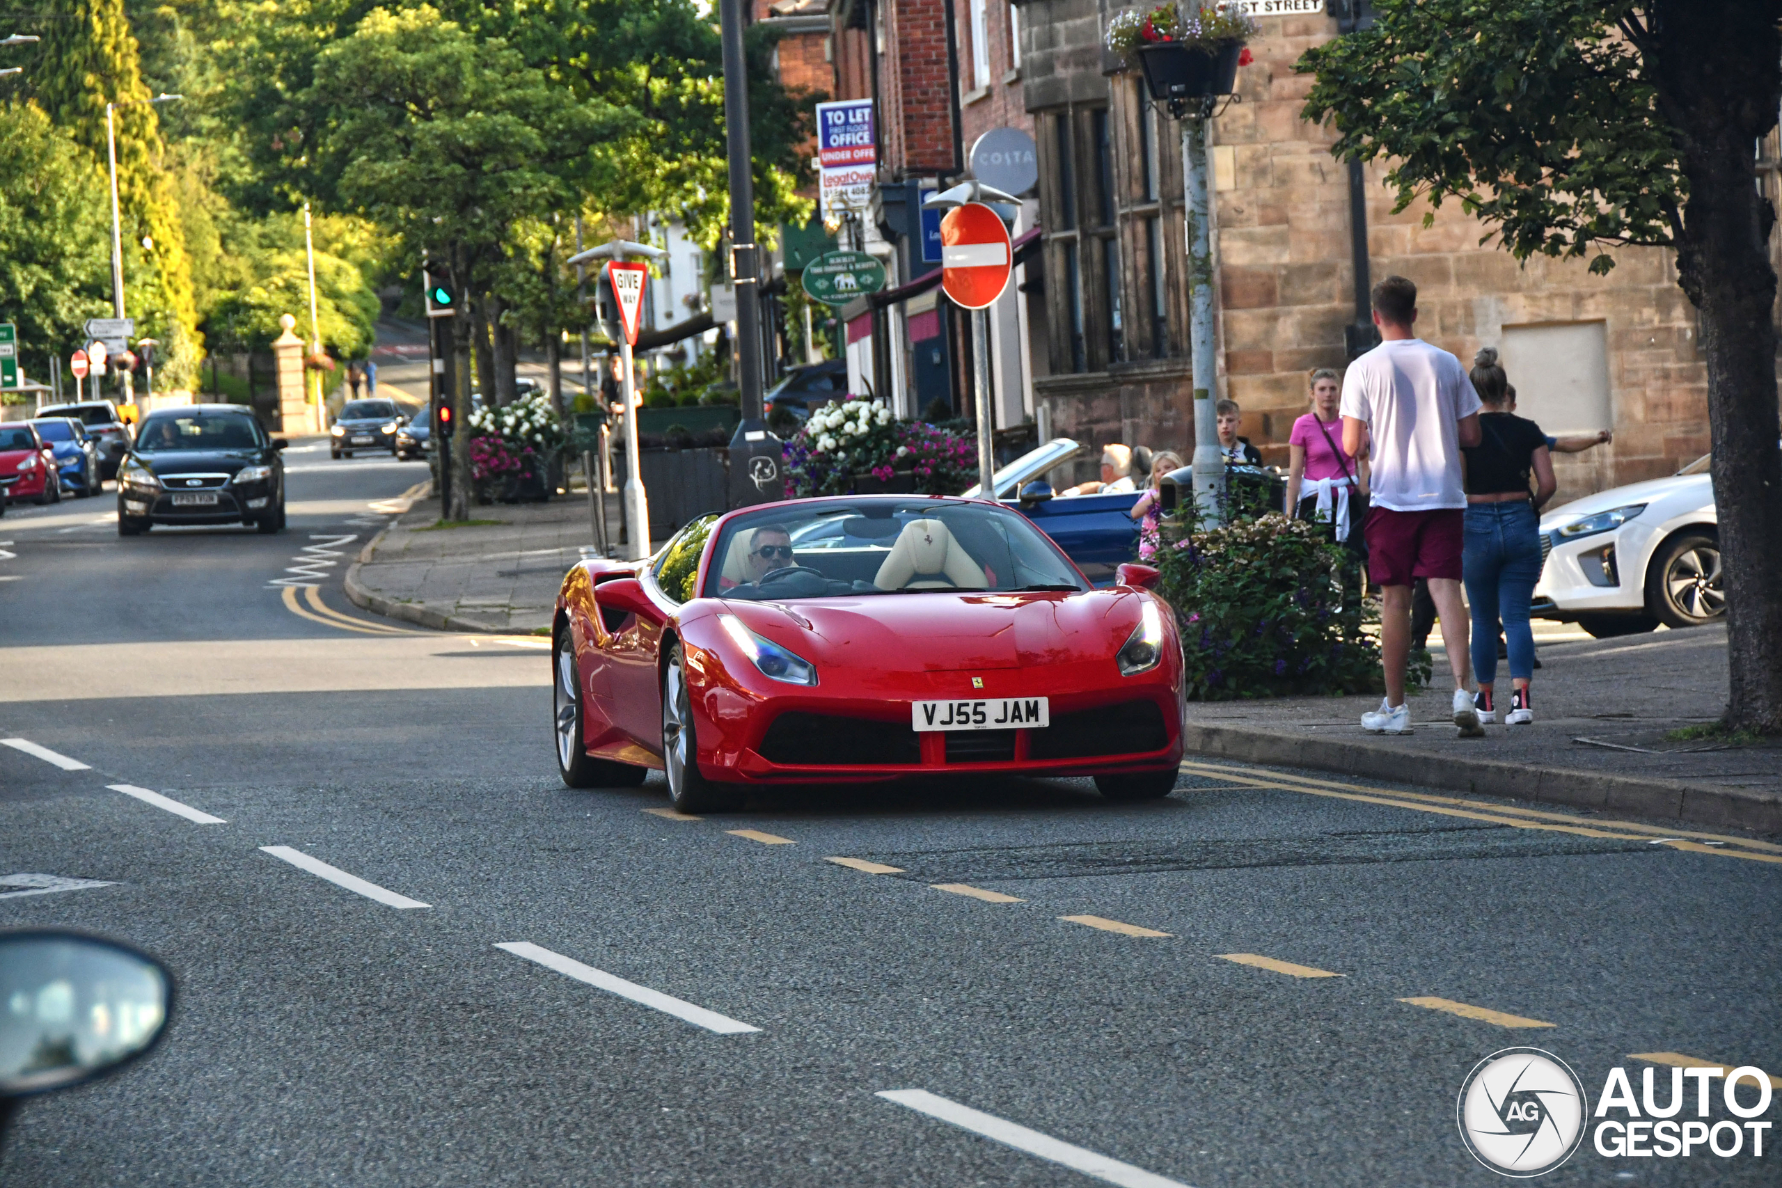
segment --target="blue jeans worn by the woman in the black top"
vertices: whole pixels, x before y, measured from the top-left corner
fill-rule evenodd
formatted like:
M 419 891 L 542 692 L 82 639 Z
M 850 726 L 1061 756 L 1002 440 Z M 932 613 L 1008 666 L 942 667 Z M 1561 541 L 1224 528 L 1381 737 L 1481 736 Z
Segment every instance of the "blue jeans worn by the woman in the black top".
M 1472 671 L 1479 686 L 1497 680 L 1497 631 L 1502 620 L 1511 679 L 1534 675 L 1529 602 L 1541 577 L 1540 518 L 1529 500 L 1467 504 L 1461 574 L 1472 606 Z

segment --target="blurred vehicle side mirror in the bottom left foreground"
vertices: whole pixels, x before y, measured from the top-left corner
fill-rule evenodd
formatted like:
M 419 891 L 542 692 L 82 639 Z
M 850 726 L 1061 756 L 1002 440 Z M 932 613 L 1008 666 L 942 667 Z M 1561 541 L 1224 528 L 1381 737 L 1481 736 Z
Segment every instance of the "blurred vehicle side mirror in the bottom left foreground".
M 144 953 L 77 932 L 0 933 L 0 1097 L 105 1076 L 155 1046 L 173 976 Z

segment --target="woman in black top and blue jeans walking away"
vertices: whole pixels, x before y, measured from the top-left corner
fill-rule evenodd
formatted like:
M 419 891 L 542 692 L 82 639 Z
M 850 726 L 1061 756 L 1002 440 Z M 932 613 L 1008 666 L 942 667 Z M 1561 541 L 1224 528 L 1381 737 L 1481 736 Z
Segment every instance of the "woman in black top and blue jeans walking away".
M 1552 456 L 1538 424 L 1509 411 L 1509 379 L 1497 351 L 1472 356 L 1472 387 L 1484 401 L 1477 445 L 1467 456 L 1467 550 L 1461 577 L 1472 606 L 1472 670 L 1479 679 L 1479 721 L 1493 721 L 1492 682 L 1497 680 L 1497 634 L 1502 620 L 1509 645 L 1509 680 L 1515 702 L 1504 725 L 1534 721 L 1529 677 L 1534 675 L 1534 632 L 1529 604 L 1541 577 L 1540 509 L 1554 497 Z M 1529 497 L 1529 472 L 1534 495 Z

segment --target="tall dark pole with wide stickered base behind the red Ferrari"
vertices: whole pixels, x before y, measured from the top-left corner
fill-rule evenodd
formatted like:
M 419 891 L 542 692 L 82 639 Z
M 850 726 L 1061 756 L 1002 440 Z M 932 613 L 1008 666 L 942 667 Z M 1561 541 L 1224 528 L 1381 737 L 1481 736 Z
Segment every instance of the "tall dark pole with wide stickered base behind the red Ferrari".
M 756 180 L 748 148 L 748 73 L 743 0 L 718 0 L 723 41 L 723 128 L 731 166 L 731 283 L 736 287 L 736 387 L 743 419 L 731 438 L 731 508 L 786 497 L 781 440 L 761 419 L 761 253 L 756 249 Z

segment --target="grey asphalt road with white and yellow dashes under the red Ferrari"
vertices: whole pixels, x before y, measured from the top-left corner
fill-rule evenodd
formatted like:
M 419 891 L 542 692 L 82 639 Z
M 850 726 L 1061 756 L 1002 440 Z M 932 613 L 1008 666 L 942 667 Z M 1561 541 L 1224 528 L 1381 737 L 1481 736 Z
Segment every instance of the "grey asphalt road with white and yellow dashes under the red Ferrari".
M 180 992 L 148 1058 L 20 1106 L 0 1183 L 1472 1188 L 1456 1092 L 1504 1047 L 1590 1104 L 1782 1072 L 1775 842 L 1205 755 L 1146 805 L 567 789 L 544 641 L 344 595 L 422 468 L 290 460 L 276 536 L 0 524 L 0 880 L 68 880 L 0 885 L 0 928 Z M 1543 1183 L 1770 1184 L 1773 1135 L 1586 1138 Z

